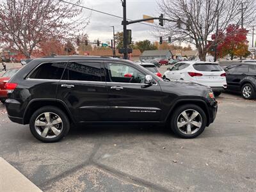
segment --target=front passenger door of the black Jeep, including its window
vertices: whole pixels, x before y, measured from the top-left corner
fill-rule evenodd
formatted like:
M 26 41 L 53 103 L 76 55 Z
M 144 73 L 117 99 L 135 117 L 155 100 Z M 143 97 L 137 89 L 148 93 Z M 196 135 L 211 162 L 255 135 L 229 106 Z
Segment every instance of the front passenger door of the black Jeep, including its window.
M 159 121 L 161 88 L 157 81 L 146 87 L 145 75 L 129 63 L 105 63 L 109 94 L 109 121 Z

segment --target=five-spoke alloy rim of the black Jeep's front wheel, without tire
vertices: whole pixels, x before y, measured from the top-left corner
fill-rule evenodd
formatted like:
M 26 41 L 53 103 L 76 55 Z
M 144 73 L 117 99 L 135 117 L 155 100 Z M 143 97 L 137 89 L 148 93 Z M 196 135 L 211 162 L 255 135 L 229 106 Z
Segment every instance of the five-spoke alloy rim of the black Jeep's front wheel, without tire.
M 184 134 L 195 134 L 202 127 L 202 116 L 195 109 L 186 109 L 178 116 L 177 127 Z

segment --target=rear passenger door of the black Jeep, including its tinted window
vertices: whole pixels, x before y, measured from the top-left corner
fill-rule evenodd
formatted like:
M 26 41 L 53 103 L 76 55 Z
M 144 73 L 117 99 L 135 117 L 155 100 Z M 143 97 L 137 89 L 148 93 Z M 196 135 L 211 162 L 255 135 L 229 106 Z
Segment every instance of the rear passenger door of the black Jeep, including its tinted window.
M 102 63 L 70 60 L 58 84 L 63 100 L 77 122 L 102 121 L 108 112 L 108 92 Z

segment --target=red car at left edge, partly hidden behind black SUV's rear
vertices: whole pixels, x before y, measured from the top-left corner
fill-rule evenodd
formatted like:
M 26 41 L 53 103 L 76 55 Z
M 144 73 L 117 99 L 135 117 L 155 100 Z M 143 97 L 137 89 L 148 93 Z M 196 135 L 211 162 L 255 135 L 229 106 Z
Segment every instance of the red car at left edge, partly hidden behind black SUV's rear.
M 0 77 L 0 101 L 3 103 L 7 99 L 7 90 L 5 88 L 5 84 L 18 70 L 19 68 L 11 68 L 10 70 L 6 71 L 2 77 Z

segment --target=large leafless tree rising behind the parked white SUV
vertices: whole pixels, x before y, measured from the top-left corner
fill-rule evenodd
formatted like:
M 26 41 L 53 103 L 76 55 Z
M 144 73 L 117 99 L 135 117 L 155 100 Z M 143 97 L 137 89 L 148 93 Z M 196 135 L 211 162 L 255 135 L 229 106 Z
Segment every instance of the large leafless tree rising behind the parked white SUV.
M 243 10 L 241 0 L 162 0 L 158 4 L 165 18 L 177 22 L 166 22 L 164 28 L 156 28 L 157 34 L 172 36 L 173 42 L 195 44 L 202 61 L 210 47 L 220 42 L 218 35 L 210 41 L 211 35 L 224 31 L 228 24 L 240 24 L 241 12 L 244 26 L 256 13 L 255 0 L 243 1 Z

